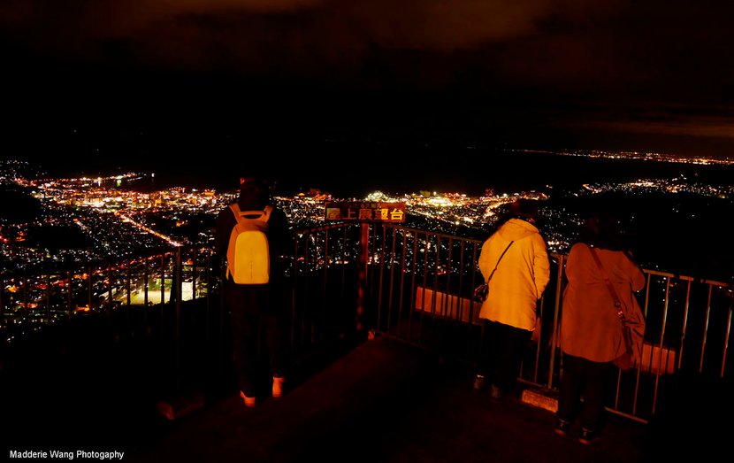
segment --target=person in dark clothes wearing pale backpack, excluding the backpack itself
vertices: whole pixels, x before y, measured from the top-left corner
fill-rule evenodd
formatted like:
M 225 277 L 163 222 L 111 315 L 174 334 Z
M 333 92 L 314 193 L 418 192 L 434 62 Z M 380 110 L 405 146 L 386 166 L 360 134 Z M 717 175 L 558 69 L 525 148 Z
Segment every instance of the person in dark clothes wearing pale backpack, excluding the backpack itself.
M 284 330 L 287 303 L 290 301 L 284 257 L 294 250 L 294 236 L 287 215 L 271 201 L 270 184 L 258 177 L 240 178 L 240 196 L 236 204 L 241 212 L 269 211 L 265 234 L 269 246 L 269 280 L 260 284 L 239 284 L 226 272 L 224 294 L 232 325 L 233 363 L 240 386 L 240 396 L 248 407 L 264 397 L 265 378 L 259 377 L 258 341 L 261 329 L 265 336 L 271 371 L 271 397 L 281 397 L 288 368 L 287 338 Z M 271 206 L 266 208 L 266 206 Z M 237 219 L 228 205 L 216 219 L 215 250 L 226 262 L 227 249 Z

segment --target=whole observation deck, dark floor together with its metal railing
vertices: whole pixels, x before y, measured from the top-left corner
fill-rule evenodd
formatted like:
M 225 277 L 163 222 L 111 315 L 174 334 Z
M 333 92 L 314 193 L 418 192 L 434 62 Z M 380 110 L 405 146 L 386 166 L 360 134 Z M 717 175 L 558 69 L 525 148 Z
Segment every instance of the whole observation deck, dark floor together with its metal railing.
M 552 256 L 543 334 L 518 372 L 524 390 L 498 401 L 471 389 L 480 242 L 393 225 L 333 224 L 297 238 L 294 369 L 284 397 L 253 409 L 233 381 L 222 269 L 206 247 L 4 275 L 4 454 L 572 462 L 730 452 L 724 282 L 646 270 L 647 357 L 619 373 L 608 426 L 585 446 L 576 429 L 554 434 L 565 256 Z

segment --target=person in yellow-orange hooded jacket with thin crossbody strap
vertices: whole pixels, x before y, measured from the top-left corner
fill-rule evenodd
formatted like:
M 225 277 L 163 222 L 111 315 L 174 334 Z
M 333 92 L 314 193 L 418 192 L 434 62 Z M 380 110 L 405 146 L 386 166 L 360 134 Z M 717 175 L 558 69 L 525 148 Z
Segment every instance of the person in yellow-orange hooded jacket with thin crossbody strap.
M 482 244 L 478 266 L 489 281 L 479 311 L 483 320 L 481 351 L 474 389 L 500 398 L 516 387 L 524 349 L 536 323 L 536 309 L 550 280 L 547 246 L 535 227 L 538 202 L 518 199 L 509 219 Z

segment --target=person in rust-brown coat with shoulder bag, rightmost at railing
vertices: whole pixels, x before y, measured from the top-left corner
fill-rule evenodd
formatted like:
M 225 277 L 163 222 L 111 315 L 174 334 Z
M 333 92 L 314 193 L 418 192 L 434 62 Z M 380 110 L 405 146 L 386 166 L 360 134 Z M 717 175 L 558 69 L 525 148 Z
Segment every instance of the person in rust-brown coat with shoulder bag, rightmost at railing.
M 615 214 L 603 208 L 586 214 L 564 269 L 568 282 L 562 297 L 563 367 L 555 432 L 567 434 L 578 417 L 582 444 L 591 444 L 600 434 L 607 388 L 617 371 L 612 362 L 626 350 L 606 278 L 622 302 L 627 323 L 643 331 L 645 323 L 633 294 L 645 287 L 645 274 L 631 259 Z

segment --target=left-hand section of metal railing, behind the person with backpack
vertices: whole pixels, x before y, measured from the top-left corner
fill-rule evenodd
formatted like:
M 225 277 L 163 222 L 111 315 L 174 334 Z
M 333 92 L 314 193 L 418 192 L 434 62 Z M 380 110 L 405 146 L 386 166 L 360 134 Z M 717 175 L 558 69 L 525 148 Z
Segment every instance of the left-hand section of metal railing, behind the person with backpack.
M 296 234 L 287 265 L 292 290 L 284 295 L 291 301 L 287 329 L 295 357 L 353 337 L 352 248 L 359 235 L 350 231 L 356 229 L 333 225 Z M 106 352 L 99 354 L 104 359 L 134 355 L 126 365 L 156 372 L 149 384 L 159 396 L 224 388 L 231 351 L 223 276 L 208 245 L 39 274 L 0 274 L 0 374 L 12 374 L 24 350 L 42 345 L 38 360 L 44 364 L 88 351 Z

